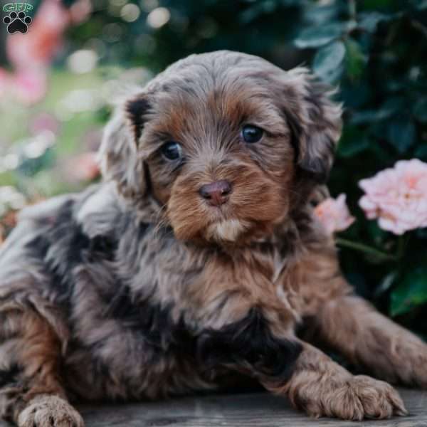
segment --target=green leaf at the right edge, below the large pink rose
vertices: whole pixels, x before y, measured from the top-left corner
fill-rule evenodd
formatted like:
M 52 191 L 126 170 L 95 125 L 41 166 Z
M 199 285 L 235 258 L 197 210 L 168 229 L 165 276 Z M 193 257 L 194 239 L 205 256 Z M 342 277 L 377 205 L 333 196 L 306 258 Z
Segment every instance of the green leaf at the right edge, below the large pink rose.
M 402 315 L 417 305 L 427 302 L 427 267 L 411 270 L 391 292 L 390 312 Z

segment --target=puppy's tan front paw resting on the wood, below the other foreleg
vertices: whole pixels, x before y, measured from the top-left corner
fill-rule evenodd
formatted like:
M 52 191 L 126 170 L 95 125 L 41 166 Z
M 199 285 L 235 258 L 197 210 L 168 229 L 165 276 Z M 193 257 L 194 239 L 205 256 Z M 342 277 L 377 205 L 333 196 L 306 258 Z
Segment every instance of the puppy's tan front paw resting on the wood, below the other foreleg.
M 352 376 L 344 382 L 327 384 L 319 400 L 307 401 L 306 411 L 312 416 L 332 416 L 360 421 L 363 418 L 390 418 L 408 412 L 399 393 L 384 381 L 369 376 Z

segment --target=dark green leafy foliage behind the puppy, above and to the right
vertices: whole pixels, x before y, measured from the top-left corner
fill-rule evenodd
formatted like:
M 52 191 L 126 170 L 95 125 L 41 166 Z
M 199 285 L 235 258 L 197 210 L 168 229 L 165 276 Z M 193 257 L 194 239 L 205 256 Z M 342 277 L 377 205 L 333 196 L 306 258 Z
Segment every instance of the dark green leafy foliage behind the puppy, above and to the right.
M 224 48 L 283 68 L 305 63 L 339 86 L 345 125 L 329 184 L 332 195 L 347 194 L 357 216 L 342 237 L 401 255 L 385 261 L 342 248 L 342 268 L 360 294 L 427 337 L 427 231 L 398 238 L 357 205 L 360 179 L 398 159 L 427 161 L 427 1 L 93 0 L 90 18 L 68 30 L 56 65 L 63 70 L 70 53 L 85 49 L 96 53 L 98 67 L 157 72 L 191 53 Z M 75 75 L 75 85 L 94 75 L 105 80 L 100 69 Z M 52 88 L 61 86 L 56 78 L 68 81 L 67 73 L 53 73 Z M 65 147 L 107 112 L 104 102 L 65 122 Z

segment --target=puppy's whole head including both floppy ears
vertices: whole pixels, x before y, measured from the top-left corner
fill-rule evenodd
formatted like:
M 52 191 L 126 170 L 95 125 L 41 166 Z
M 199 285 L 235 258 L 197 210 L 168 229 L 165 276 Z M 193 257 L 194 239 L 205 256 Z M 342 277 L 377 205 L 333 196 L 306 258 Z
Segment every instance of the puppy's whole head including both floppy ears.
M 271 233 L 297 200 L 300 169 L 307 179 L 327 174 L 339 133 L 339 108 L 305 70 L 285 73 L 241 53 L 179 61 L 123 108 L 105 134 L 104 172 L 125 195 L 154 198 L 184 241 Z M 130 170 L 117 176 L 120 167 Z

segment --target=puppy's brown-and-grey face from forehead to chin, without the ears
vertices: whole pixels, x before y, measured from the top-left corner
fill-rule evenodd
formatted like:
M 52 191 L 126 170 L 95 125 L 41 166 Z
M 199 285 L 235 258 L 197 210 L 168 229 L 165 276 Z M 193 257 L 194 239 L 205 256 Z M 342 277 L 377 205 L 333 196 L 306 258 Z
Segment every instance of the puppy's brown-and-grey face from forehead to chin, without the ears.
M 252 78 L 218 77 L 163 88 L 144 125 L 152 194 L 184 240 L 263 233 L 289 207 L 295 152 L 273 94 Z

